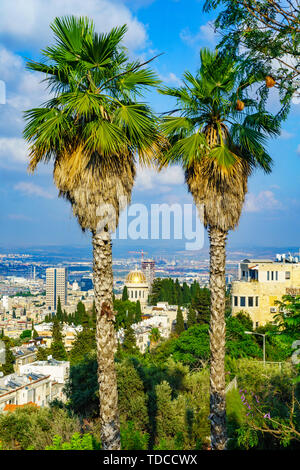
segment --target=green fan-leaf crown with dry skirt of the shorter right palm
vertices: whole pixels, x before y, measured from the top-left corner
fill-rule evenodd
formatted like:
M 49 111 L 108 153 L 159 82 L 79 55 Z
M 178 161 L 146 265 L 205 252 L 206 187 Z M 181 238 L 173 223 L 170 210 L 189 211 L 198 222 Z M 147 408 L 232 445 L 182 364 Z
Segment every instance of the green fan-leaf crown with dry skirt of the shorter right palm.
M 271 171 L 266 139 L 279 133 L 280 119 L 251 97 L 261 77 L 245 76 L 242 63 L 218 51 L 202 49 L 200 59 L 182 86 L 159 90 L 177 100 L 163 117 L 170 148 L 160 164 L 182 164 L 196 204 L 204 204 L 205 225 L 229 230 L 238 223 L 251 171 Z

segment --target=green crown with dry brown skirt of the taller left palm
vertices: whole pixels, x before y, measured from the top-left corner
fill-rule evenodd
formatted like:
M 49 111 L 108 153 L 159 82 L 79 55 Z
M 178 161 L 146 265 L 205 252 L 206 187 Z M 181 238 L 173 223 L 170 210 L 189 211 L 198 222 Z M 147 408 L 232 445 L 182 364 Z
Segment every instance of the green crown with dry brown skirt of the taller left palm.
M 45 75 L 52 93 L 25 112 L 29 169 L 53 160 L 60 195 L 71 201 L 81 227 L 94 231 L 97 205 L 119 209 L 119 197 L 130 197 L 136 154 L 149 163 L 160 150 L 156 117 L 137 101 L 160 82 L 128 59 L 121 46 L 126 26 L 97 34 L 90 20 L 71 16 L 56 18 L 51 29 L 55 41 L 42 51 L 44 61 L 27 63 Z

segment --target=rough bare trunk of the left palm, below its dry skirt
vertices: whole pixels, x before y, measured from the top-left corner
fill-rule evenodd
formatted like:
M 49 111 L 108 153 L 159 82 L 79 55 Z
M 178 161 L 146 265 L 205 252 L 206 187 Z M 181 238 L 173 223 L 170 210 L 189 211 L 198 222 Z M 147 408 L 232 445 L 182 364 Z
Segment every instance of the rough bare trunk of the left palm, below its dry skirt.
M 109 232 L 93 236 L 93 255 L 101 440 L 103 449 L 120 450 L 118 390 L 114 362 L 117 342 L 113 324 L 112 245 Z

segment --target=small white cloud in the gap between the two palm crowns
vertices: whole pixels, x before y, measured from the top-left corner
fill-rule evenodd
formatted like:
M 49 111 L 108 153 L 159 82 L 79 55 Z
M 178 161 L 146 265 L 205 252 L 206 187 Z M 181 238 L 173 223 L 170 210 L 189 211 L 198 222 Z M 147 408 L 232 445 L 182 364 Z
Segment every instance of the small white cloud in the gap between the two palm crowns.
M 173 186 L 184 184 L 184 174 L 179 166 L 171 166 L 157 172 L 153 169 L 138 168 L 136 188 L 140 191 L 155 189 L 160 193 L 169 192 Z

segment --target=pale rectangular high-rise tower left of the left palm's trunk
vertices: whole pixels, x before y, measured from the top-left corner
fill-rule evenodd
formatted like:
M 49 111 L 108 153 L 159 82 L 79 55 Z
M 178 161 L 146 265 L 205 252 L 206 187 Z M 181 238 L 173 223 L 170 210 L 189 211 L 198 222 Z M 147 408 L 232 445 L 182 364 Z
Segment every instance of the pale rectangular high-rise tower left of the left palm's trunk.
M 56 310 L 58 298 L 61 306 L 67 305 L 67 277 L 66 268 L 46 269 L 46 304 L 51 310 Z

